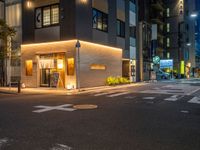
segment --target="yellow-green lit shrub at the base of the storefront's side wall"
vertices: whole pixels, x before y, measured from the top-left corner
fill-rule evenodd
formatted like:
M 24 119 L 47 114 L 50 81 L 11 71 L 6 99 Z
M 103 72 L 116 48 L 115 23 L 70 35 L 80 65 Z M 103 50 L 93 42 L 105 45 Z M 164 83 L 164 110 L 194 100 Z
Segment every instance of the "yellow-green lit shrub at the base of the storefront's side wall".
M 129 84 L 131 83 L 129 79 L 124 78 L 124 77 L 108 77 L 106 79 L 106 84 L 107 85 L 119 85 L 119 84 Z

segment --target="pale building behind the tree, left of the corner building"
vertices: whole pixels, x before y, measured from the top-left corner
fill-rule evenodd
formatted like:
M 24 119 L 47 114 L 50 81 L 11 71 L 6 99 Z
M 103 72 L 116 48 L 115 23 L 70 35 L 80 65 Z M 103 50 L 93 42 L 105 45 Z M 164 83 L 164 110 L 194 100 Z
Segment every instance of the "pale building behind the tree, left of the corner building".
M 7 59 L 7 84 L 20 80 L 20 51 L 22 44 L 22 4 L 21 0 L 5 0 L 5 20 L 16 34 L 10 39 L 10 57 Z

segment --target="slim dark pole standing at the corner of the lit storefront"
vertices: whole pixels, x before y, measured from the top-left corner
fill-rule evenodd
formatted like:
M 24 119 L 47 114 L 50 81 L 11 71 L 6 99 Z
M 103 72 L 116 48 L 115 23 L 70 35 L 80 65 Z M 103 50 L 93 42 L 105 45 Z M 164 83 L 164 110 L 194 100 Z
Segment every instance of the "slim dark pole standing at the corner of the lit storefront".
M 77 89 L 80 91 L 80 47 L 81 43 L 79 40 L 76 42 L 76 78 L 77 78 Z

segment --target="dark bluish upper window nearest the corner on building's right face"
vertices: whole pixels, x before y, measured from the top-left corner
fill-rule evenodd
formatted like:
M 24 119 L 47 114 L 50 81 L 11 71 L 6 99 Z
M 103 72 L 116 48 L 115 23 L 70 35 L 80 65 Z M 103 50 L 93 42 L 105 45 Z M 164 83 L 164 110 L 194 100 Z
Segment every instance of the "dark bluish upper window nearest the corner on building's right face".
M 93 28 L 101 31 L 108 31 L 108 15 L 93 9 Z

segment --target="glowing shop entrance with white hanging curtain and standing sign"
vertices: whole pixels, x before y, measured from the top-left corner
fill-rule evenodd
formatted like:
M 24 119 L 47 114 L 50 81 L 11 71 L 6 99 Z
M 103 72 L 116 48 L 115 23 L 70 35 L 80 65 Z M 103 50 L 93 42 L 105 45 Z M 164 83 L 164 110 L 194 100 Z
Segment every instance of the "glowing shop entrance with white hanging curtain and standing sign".
M 40 55 L 40 86 L 64 88 L 65 83 L 65 54 Z

